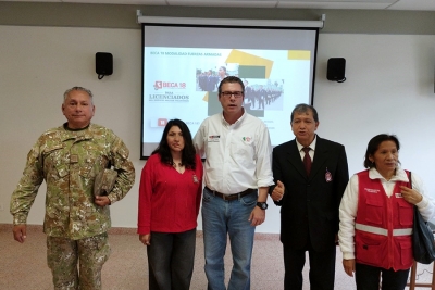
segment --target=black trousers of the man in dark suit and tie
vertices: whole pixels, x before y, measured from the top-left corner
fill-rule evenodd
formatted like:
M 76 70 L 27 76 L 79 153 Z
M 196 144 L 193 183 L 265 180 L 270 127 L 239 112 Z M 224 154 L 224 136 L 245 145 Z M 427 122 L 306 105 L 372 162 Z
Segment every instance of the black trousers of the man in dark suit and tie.
M 332 243 L 328 251 L 324 252 L 314 251 L 311 244 L 302 250 L 295 250 L 284 244 L 284 289 L 302 289 L 302 269 L 306 264 L 307 251 L 310 260 L 310 289 L 334 290 L 336 254 L 336 245 L 334 243 Z

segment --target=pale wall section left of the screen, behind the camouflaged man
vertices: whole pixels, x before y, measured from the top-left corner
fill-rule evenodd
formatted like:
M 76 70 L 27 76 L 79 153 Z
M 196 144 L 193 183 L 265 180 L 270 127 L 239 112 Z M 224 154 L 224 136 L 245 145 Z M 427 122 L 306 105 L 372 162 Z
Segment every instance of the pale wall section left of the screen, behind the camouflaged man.
M 0 26 L 0 223 L 11 223 L 9 202 L 26 155 L 40 134 L 65 122 L 63 92 L 83 86 L 94 92 L 94 123 L 114 130 L 130 150 L 136 179 L 140 153 L 140 29 Z M 113 54 L 113 75 L 99 80 L 95 53 Z M 138 182 L 112 206 L 113 226 L 136 227 Z M 45 187 L 28 224 L 42 224 Z

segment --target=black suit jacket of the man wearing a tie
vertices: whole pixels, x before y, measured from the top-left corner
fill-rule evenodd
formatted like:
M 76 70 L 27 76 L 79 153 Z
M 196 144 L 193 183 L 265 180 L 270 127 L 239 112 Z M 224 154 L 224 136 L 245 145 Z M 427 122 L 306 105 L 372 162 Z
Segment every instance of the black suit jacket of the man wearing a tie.
M 273 176 L 281 180 L 285 193 L 281 205 L 281 241 L 295 250 L 302 250 L 310 237 L 315 251 L 331 249 L 338 232 L 338 206 L 349 180 L 345 147 L 316 137 L 310 176 L 296 140 L 273 150 Z M 332 180 L 327 181 L 326 174 Z M 271 187 L 272 192 L 273 187 Z

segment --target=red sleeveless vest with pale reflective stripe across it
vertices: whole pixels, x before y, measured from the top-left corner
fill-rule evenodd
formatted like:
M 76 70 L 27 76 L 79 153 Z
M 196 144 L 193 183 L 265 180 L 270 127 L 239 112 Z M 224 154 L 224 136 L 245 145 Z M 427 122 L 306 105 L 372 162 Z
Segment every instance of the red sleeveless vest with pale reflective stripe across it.
M 369 171 L 358 173 L 359 198 L 355 230 L 357 263 L 394 270 L 411 267 L 413 205 L 400 193 L 397 181 L 387 197 L 378 179 L 370 179 Z

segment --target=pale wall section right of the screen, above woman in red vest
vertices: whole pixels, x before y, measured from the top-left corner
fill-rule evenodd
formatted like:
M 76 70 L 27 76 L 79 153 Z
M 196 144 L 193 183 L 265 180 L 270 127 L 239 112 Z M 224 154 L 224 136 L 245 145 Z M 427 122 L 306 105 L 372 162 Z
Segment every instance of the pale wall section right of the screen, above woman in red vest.
M 346 59 L 345 83 L 325 78 L 328 58 Z M 318 134 L 346 146 L 349 173 L 363 169 L 369 140 L 396 134 L 402 167 L 435 196 L 435 36 L 320 35 L 314 105 Z

